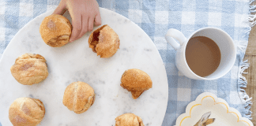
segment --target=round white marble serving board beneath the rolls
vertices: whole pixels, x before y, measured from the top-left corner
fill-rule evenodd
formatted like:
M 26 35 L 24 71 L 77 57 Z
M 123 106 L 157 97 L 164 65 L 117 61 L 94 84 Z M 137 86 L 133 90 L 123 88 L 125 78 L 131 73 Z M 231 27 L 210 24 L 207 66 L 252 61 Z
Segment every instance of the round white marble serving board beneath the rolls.
M 24 26 L 2 55 L 0 62 L 0 122 L 11 125 L 9 106 L 21 97 L 38 98 L 46 113 L 39 125 L 113 126 L 115 117 L 134 113 L 146 126 L 160 126 L 168 105 L 168 79 L 164 63 L 149 36 L 132 21 L 107 9 L 100 8 L 102 25 L 108 24 L 119 35 L 120 49 L 113 57 L 100 58 L 88 47 L 87 32 L 81 39 L 65 46 L 47 46 L 39 28 L 43 13 Z M 69 15 L 66 15 L 68 17 Z M 93 30 L 96 30 L 95 27 Z M 49 76 L 32 86 L 18 83 L 10 72 L 17 57 L 25 53 L 41 54 L 47 60 Z M 120 86 L 126 69 L 141 69 L 152 79 L 152 88 L 133 99 Z M 62 104 L 66 87 L 75 81 L 88 83 L 96 100 L 85 113 L 77 114 Z

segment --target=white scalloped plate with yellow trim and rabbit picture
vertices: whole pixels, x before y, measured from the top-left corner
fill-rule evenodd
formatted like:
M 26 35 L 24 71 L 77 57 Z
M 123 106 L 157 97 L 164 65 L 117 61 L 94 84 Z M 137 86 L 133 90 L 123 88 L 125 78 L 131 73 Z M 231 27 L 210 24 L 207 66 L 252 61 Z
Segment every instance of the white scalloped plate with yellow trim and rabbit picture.
M 204 113 L 211 111 L 209 118 L 215 118 L 213 124 L 207 126 L 253 126 L 252 122 L 242 117 L 237 109 L 228 106 L 222 98 L 205 92 L 198 95 L 194 102 L 186 106 L 186 113 L 181 114 L 175 126 L 194 126 Z

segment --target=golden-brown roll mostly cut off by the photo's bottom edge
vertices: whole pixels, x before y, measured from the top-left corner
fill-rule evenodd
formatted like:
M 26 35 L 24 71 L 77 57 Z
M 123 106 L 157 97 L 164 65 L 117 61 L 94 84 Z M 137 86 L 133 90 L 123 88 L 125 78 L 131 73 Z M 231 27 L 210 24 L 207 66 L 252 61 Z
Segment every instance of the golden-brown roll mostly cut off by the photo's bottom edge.
M 133 113 L 125 113 L 115 118 L 115 126 L 144 126 L 141 117 Z

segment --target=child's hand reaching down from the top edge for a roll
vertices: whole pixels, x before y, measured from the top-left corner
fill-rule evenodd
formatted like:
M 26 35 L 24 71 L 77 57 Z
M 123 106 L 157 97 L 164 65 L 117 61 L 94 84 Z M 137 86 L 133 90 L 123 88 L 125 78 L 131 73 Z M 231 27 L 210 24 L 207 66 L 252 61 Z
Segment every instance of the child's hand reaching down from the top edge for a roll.
M 87 31 L 92 31 L 93 23 L 101 24 L 99 5 L 96 0 L 61 0 L 53 14 L 63 14 L 69 10 L 72 18 L 70 42 L 80 39 Z

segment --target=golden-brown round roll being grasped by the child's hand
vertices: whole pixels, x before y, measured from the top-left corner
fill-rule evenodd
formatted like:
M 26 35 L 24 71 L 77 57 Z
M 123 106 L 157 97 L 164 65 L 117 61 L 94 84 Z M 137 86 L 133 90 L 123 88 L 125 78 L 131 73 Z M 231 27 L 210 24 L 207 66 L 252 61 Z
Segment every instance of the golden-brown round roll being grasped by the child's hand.
M 70 20 L 58 14 L 45 17 L 40 25 L 40 34 L 44 43 L 53 47 L 69 43 L 71 30 Z

